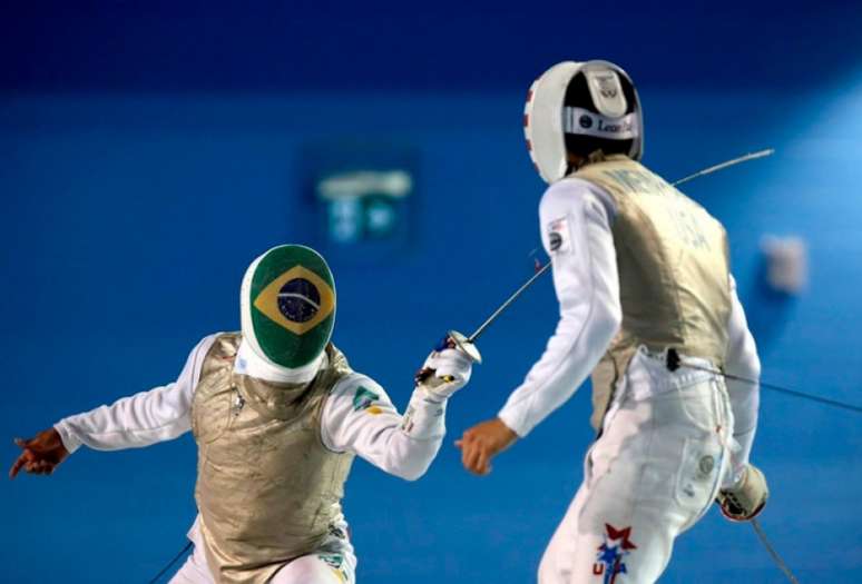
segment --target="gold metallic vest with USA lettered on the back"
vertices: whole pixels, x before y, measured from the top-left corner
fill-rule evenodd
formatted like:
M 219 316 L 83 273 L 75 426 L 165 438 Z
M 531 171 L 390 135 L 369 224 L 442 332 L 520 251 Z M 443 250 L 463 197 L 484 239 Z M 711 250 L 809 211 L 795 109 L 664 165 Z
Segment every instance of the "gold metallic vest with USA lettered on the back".
M 624 156 L 599 159 L 575 177 L 614 198 L 614 246 L 623 325 L 592 372 L 596 429 L 638 346 L 724 364 L 731 313 L 727 235 L 692 199 Z

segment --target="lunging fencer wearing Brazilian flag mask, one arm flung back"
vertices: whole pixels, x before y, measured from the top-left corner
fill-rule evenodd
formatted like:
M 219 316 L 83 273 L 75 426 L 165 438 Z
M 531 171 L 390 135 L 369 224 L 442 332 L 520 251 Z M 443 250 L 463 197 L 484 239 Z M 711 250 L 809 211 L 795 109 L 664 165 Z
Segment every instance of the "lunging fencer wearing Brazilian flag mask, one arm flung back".
M 439 345 L 402 416 L 332 345 L 335 309 L 335 283 L 316 251 L 270 249 L 243 278 L 239 333 L 204 337 L 174 383 L 18 441 L 23 452 L 10 475 L 50 474 L 81 445 L 140 447 L 190 429 L 195 548 L 173 583 L 354 582 L 341 508 L 354 456 L 409 481 L 422 476 L 471 360 Z

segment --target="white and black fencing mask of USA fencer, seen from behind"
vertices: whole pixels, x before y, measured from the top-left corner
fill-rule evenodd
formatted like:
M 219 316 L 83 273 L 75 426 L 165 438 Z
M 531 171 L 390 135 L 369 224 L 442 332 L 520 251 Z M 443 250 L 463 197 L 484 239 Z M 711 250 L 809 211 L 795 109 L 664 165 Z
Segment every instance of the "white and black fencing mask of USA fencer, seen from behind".
M 546 182 L 569 174 L 568 154 L 596 150 L 640 160 L 644 151 L 640 100 L 628 75 L 608 61 L 564 61 L 530 87 L 523 133 Z

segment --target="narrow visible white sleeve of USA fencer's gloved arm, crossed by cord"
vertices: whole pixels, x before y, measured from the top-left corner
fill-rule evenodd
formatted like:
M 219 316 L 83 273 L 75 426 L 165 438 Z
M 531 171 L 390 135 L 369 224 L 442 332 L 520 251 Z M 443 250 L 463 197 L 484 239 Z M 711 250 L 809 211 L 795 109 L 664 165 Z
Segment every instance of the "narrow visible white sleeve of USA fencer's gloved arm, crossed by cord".
M 748 330 L 739 298 L 736 295 L 736 281 L 731 277 L 731 316 L 727 323 L 727 353 L 725 373 L 760 380 L 761 359 L 757 357 L 757 346 Z M 738 476 L 748 464 L 748 456 L 757 429 L 757 408 L 761 402 L 758 385 L 726 379 L 727 393 L 734 417 L 733 437 L 739 444 L 739 449 L 733 455 L 733 477 Z M 733 481 L 733 477 L 728 479 Z

